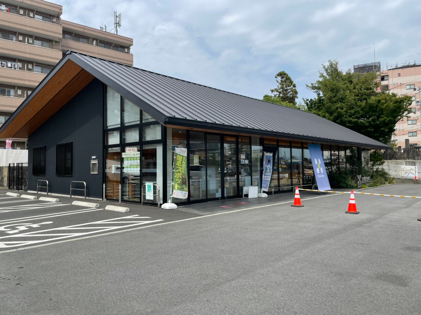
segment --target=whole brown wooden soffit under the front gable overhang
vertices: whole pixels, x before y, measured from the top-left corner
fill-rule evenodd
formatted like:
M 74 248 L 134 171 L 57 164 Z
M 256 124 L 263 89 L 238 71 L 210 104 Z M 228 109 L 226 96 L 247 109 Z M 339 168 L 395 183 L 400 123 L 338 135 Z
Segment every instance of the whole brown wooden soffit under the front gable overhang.
M 35 89 L 34 97 L 0 133 L 0 138 L 27 139 L 93 79 L 94 76 L 75 62 L 67 60 L 41 89 Z

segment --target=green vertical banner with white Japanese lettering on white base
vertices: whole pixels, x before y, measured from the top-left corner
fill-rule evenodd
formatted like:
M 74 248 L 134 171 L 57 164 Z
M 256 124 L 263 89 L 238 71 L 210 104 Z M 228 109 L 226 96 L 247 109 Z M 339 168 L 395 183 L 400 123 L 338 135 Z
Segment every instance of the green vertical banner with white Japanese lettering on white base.
M 173 197 L 187 199 L 189 185 L 187 184 L 187 149 L 175 148 Z

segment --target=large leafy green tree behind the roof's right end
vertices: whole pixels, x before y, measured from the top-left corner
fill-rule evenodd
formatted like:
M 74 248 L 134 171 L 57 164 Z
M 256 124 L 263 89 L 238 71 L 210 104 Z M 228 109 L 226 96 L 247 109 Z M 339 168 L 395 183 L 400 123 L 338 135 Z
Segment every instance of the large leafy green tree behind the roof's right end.
M 341 126 L 357 131 L 382 143 L 388 143 L 395 125 L 408 114 L 409 96 L 397 97 L 389 92 L 378 92 L 378 74 L 343 73 L 338 61 L 323 65 L 319 80 L 307 85 L 316 93 L 304 99 L 307 110 Z

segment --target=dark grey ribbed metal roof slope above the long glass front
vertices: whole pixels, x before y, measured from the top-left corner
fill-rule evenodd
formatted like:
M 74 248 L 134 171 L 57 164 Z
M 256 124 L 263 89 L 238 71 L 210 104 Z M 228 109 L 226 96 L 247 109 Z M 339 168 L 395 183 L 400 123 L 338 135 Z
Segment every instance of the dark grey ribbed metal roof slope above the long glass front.
M 367 136 L 294 108 L 80 53 L 67 52 L 60 63 L 64 64 L 67 59 L 73 60 L 164 125 L 388 148 Z

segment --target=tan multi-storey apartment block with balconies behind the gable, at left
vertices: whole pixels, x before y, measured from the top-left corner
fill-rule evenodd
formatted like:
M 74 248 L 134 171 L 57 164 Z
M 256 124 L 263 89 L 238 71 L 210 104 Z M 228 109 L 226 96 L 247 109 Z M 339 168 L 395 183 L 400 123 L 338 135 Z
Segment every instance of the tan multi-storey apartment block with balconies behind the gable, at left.
M 133 66 L 133 39 L 64 21 L 62 13 L 43 0 L 0 1 L 0 126 L 67 50 Z M 12 148 L 26 149 L 26 141 Z

